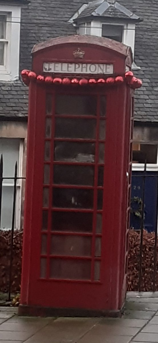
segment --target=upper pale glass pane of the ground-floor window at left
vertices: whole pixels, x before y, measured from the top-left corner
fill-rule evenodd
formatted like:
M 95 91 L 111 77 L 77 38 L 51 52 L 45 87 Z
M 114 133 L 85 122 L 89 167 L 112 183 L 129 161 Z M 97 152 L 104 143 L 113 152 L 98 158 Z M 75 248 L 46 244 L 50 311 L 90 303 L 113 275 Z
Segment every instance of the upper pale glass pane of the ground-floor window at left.
M 3 176 L 14 177 L 15 163 L 17 161 L 17 175 L 19 166 L 20 140 L 16 138 L 0 138 L 0 155 L 3 155 Z M 14 180 L 3 180 L 3 184 L 14 184 Z

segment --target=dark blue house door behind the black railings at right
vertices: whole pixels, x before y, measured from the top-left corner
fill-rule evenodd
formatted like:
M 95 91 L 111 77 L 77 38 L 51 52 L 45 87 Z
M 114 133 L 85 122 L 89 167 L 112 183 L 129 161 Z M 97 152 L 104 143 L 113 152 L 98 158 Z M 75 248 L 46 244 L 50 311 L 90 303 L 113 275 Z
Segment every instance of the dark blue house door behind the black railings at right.
M 141 171 L 132 172 L 131 190 L 131 227 L 135 230 L 141 229 L 141 205 L 143 199 L 143 173 Z M 154 176 L 150 176 L 154 175 Z M 147 171 L 145 177 L 145 209 L 144 226 L 148 232 L 156 230 L 157 225 L 157 172 Z

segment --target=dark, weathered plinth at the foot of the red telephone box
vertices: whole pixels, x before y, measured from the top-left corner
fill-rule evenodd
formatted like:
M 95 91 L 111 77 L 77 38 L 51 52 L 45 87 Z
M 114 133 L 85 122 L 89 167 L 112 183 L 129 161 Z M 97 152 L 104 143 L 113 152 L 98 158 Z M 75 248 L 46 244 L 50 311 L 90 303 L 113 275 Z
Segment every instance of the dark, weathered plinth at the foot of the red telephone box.
M 109 317 L 121 318 L 123 309 L 120 310 L 89 310 L 76 308 L 51 308 L 42 306 L 19 305 L 18 316 L 32 317 Z

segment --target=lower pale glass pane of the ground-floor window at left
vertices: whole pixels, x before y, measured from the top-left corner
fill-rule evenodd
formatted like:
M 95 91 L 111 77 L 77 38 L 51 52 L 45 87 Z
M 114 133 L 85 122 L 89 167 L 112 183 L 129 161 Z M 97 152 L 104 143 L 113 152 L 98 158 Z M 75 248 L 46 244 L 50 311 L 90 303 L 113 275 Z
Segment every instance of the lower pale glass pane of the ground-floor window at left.
M 4 229 L 11 229 L 12 227 L 13 192 L 14 187 L 12 186 L 2 187 L 1 228 Z M 16 228 L 16 218 L 14 221 L 14 228 Z

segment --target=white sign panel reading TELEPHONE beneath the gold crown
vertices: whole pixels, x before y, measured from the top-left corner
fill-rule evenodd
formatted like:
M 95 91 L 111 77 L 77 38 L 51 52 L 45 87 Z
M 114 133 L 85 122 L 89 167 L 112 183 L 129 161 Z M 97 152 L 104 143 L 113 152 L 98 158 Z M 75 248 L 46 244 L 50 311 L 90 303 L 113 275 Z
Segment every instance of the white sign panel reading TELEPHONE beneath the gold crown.
M 66 74 L 113 74 L 113 64 L 44 62 L 43 71 Z

